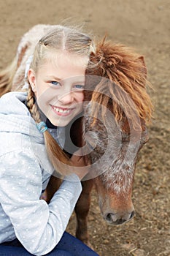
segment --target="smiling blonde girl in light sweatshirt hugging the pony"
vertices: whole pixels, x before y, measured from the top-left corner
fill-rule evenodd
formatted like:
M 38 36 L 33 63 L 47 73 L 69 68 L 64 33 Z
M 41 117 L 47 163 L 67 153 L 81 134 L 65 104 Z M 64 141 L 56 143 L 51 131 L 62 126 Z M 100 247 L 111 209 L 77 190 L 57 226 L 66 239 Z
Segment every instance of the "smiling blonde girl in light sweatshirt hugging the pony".
M 55 26 L 34 49 L 28 90 L 0 98 L 0 255 L 97 255 L 64 232 L 88 171 L 61 150 L 64 127 L 82 112 L 94 51 L 88 35 Z M 47 205 L 39 198 L 53 170 L 65 178 Z

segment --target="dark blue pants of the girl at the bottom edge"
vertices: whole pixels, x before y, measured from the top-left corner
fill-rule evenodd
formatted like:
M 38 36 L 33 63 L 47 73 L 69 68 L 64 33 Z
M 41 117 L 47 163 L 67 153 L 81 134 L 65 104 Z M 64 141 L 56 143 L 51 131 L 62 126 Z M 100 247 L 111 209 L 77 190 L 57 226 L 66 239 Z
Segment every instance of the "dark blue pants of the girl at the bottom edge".
M 29 256 L 31 253 L 15 239 L 14 241 L 0 244 L 0 256 Z M 55 246 L 53 251 L 47 255 L 50 256 L 99 256 L 96 252 L 90 249 L 88 246 L 82 243 L 79 239 L 70 235 L 69 233 L 63 233 L 61 241 Z

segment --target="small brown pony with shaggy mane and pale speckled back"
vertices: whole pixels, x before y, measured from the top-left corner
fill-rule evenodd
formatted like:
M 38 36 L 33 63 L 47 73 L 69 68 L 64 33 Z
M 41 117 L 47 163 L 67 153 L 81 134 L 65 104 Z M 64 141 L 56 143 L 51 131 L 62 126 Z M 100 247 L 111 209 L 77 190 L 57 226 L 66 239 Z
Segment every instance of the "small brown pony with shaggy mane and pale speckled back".
M 37 25 L 20 41 L 11 66 L 0 73 L 0 96 L 23 86 L 26 61 L 36 42 L 55 26 Z M 90 67 L 90 64 L 91 65 Z M 99 42 L 86 70 L 84 113 L 68 127 L 70 140 L 82 147 L 90 172 L 82 181 L 75 212 L 77 238 L 88 244 L 87 217 L 95 185 L 102 217 L 120 225 L 134 216 L 131 201 L 136 156 L 148 140 L 146 122 L 152 103 L 147 94 L 144 59 L 123 45 Z M 69 142 L 70 142 L 69 140 Z M 68 146 L 69 147 L 69 146 Z M 66 146 L 67 148 L 67 146 Z M 69 151 L 69 150 L 68 150 Z M 49 201 L 61 181 L 54 176 Z

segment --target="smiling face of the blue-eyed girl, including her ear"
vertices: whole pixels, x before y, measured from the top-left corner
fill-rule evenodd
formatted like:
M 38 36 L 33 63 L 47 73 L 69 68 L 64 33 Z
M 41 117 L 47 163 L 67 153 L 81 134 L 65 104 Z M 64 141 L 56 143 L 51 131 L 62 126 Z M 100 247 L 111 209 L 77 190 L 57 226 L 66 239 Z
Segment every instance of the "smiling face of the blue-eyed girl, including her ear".
M 37 104 L 53 125 L 64 127 L 82 111 L 87 64 L 87 57 L 61 52 L 53 53 L 37 72 L 29 69 Z

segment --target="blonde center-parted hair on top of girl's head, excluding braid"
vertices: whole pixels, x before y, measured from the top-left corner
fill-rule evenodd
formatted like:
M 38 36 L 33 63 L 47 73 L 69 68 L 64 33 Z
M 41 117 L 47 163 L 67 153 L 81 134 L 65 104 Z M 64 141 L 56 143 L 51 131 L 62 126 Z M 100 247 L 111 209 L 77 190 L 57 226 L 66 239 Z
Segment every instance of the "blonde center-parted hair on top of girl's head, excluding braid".
M 66 26 L 56 26 L 55 29 L 39 40 L 34 49 L 34 58 L 31 61 L 31 68 L 34 72 L 39 68 L 49 51 L 62 50 L 68 53 L 75 53 L 77 56 L 90 57 L 95 53 L 96 48 L 92 39 L 82 33 L 79 29 Z

